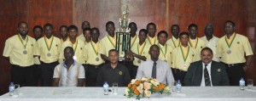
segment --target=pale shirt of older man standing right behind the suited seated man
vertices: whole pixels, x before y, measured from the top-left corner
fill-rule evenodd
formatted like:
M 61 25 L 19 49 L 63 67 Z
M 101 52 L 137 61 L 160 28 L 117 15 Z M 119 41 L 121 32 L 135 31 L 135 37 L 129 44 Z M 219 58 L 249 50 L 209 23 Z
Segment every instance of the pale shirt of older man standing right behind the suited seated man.
M 207 40 L 207 36 L 203 36 L 201 37 L 201 39 L 206 42 L 207 44 L 207 48 L 211 48 L 212 49 L 212 53 L 213 53 L 213 58 L 212 60 L 219 62 L 219 57 L 216 55 L 216 48 L 217 48 L 217 43 L 218 43 L 218 37 L 217 36 L 212 36 L 212 39 L 210 39 L 210 41 Z

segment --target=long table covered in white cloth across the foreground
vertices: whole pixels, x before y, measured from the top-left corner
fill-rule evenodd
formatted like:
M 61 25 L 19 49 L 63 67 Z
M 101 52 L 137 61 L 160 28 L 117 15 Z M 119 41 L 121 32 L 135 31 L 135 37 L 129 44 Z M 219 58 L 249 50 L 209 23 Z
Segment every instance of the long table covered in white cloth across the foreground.
M 247 87 L 246 87 L 247 88 Z M 135 98 L 124 96 L 125 87 L 119 87 L 119 94 L 103 95 L 102 87 L 20 87 L 20 96 L 0 96 L 0 101 L 130 101 Z M 239 87 L 183 87 L 182 93 L 171 95 L 156 93 L 141 101 L 256 101 L 255 87 L 252 91 Z

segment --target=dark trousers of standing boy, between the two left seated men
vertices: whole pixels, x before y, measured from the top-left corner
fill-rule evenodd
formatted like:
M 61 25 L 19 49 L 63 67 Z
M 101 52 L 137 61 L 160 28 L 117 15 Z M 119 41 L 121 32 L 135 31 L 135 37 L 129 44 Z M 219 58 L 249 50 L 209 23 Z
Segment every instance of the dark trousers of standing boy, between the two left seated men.
M 86 87 L 96 87 L 96 79 L 101 66 L 102 65 L 84 65 Z

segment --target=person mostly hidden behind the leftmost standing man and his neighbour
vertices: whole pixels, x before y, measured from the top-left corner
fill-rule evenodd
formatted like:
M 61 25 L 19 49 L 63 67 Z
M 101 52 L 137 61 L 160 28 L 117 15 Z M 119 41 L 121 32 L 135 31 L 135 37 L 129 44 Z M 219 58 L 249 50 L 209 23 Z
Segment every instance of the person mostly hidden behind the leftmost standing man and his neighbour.
M 38 39 L 42 37 L 42 33 L 43 33 L 43 27 L 40 25 L 35 25 L 33 28 L 33 34 L 35 36 L 36 41 L 38 42 Z M 36 84 L 38 84 L 39 79 L 40 79 L 40 60 L 38 59 L 38 56 L 34 57 L 34 77 L 35 77 L 35 81 Z

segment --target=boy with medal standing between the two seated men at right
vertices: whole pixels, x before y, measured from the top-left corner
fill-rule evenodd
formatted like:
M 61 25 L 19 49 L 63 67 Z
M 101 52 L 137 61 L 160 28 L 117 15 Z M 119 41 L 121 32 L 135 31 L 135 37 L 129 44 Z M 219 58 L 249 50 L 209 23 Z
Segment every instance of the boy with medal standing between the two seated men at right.
M 190 63 L 199 60 L 195 48 L 188 45 L 189 33 L 182 32 L 179 34 L 181 45 L 173 50 L 172 67 L 175 70 L 175 80 L 181 80 L 183 83 Z

